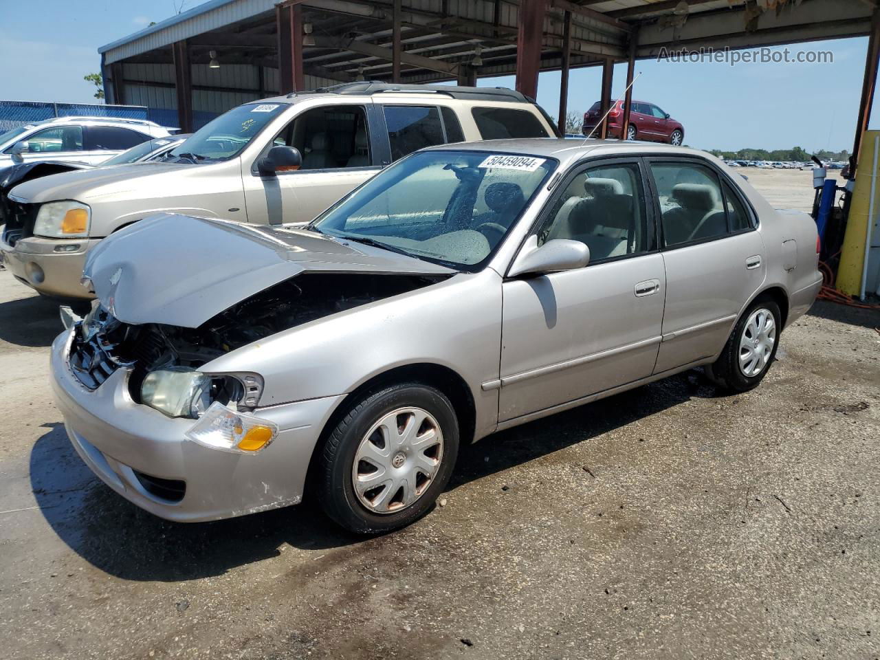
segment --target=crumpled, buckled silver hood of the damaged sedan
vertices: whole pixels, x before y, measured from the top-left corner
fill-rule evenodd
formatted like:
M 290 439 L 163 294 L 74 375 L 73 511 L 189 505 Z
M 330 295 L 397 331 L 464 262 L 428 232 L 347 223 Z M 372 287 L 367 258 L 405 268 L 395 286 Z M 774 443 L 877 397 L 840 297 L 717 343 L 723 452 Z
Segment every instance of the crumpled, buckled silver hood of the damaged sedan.
M 102 240 L 84 274 L 125 323 L 198 327 L 304 271 L 450 275 L 429 261 L 314 231 L 158 214 Z

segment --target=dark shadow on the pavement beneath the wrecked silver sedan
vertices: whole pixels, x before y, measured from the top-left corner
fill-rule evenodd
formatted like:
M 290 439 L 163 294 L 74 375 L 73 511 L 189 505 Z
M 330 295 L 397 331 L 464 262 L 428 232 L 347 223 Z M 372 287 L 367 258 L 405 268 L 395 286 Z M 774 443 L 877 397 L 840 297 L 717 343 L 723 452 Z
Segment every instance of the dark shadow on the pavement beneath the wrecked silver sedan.
M 700 374 L 690 371 L 489 436 L 462 448 L 448 489 L 712 392 Z M 193 580 L 274 557 L 285 543 L 321 549 L 363 540 L 341 531 L 308 503 L 213 523 L 167 522 L 138 509 L 95 477 L 70 445 L 62 424 L 47 428 L 30 458 L 42 514 L 74 552 L 113 576 Z

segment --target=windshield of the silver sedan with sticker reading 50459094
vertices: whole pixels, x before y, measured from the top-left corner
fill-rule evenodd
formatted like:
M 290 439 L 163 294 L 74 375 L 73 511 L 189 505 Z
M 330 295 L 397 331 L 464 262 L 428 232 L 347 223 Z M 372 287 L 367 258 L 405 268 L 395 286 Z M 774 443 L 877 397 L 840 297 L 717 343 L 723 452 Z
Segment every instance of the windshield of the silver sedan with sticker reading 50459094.
M 476 270 L 556 161 L 490 151 L 424 151 L 328 209 L 312 229 Z

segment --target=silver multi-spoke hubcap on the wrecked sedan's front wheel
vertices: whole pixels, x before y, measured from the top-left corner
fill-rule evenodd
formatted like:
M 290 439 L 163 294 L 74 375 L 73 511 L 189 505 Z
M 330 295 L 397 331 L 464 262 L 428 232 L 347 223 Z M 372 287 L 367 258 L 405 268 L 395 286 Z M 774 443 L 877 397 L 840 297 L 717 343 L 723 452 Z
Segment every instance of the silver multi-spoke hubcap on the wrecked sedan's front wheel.
M 357 499 L 374 513 L 406 509 L 428 490 L 443 460 L 443 431 L 422 408 L 385 414 L 363 436 L 352 480 Z

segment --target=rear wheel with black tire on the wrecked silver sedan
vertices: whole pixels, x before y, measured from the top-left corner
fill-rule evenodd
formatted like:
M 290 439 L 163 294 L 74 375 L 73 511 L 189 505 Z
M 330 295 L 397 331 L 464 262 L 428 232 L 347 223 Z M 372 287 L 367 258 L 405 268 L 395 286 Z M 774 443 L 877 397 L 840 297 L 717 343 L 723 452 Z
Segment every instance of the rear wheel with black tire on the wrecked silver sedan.
M 768 316 L 773 325 L 771 342 L 767 340 L 771 336 L 766 326 Z M 748 392 L 757 387 L 776 357 L 781 327 L 779 305 L 769 297 L 759 297 L 737 321 L 721 356 L 706 367 L 708 378 L 728 392 Z M 749 348 L 751 353 L 746 352 Z

